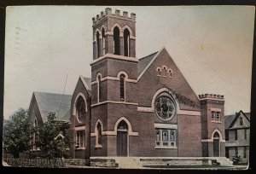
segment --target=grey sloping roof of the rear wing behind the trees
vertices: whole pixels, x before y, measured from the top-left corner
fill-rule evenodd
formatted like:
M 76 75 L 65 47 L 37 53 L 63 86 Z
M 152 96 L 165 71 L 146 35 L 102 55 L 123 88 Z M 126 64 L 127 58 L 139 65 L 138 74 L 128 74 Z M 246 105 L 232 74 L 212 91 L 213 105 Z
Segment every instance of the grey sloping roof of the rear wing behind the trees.
M 34 95 L 44 122 L 47 121 L 49 112 L 55 112 L 59 120 L 69 121 L 71 95 L 63 95 L 63 98 L 62 94 L 46 92 L 34 92 Z

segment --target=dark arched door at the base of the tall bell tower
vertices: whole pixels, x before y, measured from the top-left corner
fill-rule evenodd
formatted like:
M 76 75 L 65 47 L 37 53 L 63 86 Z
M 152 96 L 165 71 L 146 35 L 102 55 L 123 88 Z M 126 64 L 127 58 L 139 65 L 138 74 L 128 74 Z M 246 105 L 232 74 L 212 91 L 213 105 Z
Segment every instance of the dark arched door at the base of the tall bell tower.
M 128 155 L 128 125 L 124 120 L 117 127 L 117 156 Z

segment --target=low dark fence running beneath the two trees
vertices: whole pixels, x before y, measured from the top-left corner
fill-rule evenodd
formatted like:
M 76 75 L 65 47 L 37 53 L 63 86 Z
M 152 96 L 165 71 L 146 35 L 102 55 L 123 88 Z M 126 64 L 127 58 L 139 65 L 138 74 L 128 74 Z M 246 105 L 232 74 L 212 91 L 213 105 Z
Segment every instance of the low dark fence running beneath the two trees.
M 3 159 L 9 165 L 21 167 L 48 167 L 63 168 L 65 167 L 64 159 L 23 159 L 23 158 L 5 158 Z

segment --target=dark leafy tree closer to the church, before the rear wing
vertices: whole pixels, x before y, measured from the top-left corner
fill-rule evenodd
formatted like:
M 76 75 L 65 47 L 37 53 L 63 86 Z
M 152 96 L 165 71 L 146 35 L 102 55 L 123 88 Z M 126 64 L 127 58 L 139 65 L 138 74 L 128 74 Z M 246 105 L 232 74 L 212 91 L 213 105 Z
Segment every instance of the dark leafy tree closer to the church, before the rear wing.
M 56 120 L 55 113 L 50 112 L 47 122 L 38 127 L 38 142 L 42 157 L 61 158 L 69 147 L 68 136 L 63 136 L 62 124 Z

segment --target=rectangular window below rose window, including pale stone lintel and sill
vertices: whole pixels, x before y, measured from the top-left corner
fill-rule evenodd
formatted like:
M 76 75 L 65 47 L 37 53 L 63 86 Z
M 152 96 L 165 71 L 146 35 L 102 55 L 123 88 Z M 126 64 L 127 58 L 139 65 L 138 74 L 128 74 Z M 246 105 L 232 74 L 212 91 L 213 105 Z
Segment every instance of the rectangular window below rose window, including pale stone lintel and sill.
M 154 129 L 156 133 L 154 148 L 177 148 L 177 125 L 154 124 Z

